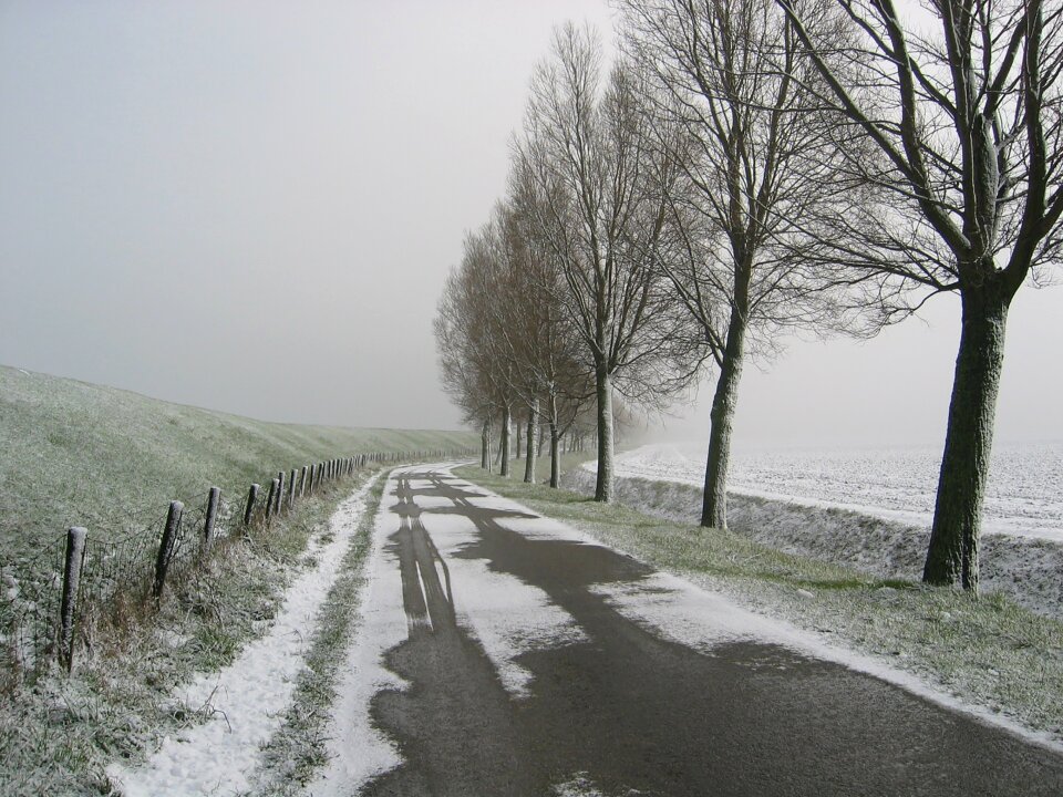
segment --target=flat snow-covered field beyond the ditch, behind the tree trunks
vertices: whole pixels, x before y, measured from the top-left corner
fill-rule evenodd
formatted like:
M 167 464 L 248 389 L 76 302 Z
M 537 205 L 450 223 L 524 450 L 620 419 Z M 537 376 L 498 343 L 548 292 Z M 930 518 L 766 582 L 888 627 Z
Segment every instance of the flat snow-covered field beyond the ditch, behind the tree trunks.
M 705 446 L 650 445 L 620 455 L 617 475 L 701 485 Z M 939 447 L 737 452 L 729 489 L 929 526 Z M 1063 443 L 997 444 L 983 530 L 1063 541 Z

